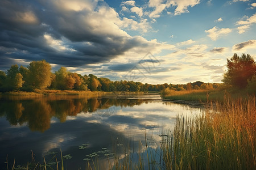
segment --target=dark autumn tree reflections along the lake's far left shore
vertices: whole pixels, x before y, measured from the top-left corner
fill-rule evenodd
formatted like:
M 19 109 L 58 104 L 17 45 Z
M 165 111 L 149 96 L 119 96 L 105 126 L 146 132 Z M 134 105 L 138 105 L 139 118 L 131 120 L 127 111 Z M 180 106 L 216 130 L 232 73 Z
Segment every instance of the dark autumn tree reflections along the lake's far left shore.
M 108 109 L 112 106 L 131 107 L 147 100 L 113 98 L 95 99 L 88 96 L 43 96 L 1 97 L 0 116 L 5 116 L 11 125 L 27 124 L 31 131 L 44 132 L 51 126 L 51 118 L 56 117 L 65 122 L 68 116 L 92 113 L 98 109 Z

